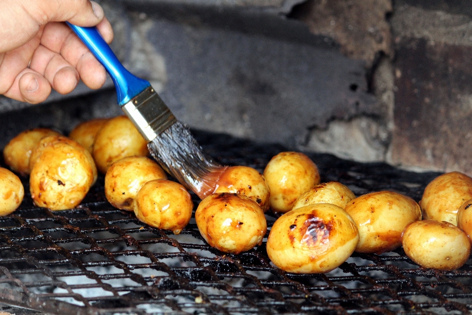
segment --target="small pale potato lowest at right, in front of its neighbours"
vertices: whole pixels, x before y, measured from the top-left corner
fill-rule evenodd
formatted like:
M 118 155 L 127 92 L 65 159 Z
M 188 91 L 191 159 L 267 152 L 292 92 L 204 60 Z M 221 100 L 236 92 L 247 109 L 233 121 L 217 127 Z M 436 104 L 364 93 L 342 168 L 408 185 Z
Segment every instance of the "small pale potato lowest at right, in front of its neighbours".
M 471 244 L 466 233 L 449 222 L 423 220 L 403 232 L 403 249 L 424 268 L 454 270 L 469 259 Z

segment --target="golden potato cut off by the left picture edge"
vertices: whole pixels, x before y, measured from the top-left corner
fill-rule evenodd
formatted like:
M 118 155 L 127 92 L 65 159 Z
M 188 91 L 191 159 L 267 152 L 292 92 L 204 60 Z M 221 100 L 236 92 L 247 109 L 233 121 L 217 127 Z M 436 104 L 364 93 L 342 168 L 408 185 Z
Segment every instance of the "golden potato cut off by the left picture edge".
M 23 201 L 25 189 L 18 176 L 0 167 L 0 216 L 16 210 Z

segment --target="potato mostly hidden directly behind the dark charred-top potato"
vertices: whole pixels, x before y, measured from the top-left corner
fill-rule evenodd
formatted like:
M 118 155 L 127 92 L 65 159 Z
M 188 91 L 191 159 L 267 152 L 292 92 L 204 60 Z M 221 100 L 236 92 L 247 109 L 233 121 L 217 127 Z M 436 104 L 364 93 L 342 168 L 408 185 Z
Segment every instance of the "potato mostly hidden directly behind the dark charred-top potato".
M 344 209 L 346 204 L 355 198 L 351 189 L 338 182 L 318 184 L 299 196 L 292 210 L 315 204 L 330 203 Z

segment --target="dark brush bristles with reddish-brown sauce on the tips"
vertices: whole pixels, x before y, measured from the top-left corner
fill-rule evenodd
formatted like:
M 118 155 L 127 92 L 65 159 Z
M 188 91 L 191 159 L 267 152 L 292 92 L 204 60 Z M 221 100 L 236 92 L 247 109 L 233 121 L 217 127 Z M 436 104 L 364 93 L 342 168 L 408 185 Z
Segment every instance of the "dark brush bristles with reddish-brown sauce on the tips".
M 214 191 L 219 174 L 226 168 L 205 155 L 179 122 L 149 142 L 148 149 L 167 172 L 202 199 Z

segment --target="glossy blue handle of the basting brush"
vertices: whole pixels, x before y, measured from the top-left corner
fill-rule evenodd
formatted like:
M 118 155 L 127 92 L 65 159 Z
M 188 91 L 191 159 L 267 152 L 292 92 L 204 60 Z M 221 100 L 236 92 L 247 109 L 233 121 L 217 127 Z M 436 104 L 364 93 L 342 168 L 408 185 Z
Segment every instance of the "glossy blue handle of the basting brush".
M 68 22 L 67 24 L 107 69 L 113 83 L 115 83 L 119 105 L 126 104 L 150 86 L 148 81 L 140 79 L 126 70 L 95 27 L 85 28 Z

